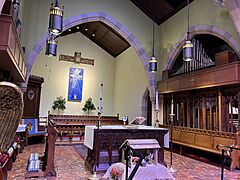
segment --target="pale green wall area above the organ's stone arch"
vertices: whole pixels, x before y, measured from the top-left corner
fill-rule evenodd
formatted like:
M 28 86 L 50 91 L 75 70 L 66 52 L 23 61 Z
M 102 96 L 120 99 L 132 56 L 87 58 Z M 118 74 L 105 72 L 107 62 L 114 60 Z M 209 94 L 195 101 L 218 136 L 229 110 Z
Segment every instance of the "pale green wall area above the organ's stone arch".
M 214 5 L 213 0 L 194 0 L 190 4 L 190 26 L 212 25 L 230 33 L 238 43 L 240 38 L 226 9 Z M 158 27 L 159 33 L 159 74 L 167 63 L 167 57 L 181 36 L 187 31 L 187 7 L 179 11 Z

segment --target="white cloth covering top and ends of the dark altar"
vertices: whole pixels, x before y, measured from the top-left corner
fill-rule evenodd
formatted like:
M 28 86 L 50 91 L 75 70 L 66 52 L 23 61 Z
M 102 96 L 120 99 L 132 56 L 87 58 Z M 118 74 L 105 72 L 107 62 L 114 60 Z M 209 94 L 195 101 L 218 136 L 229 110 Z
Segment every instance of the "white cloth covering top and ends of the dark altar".
M 133 127 L 131 129 L 146 129 L 146 130 L 163 130 L 164 128 L 155 128 L 152 126 L 144 126 L 144 125 L 134 125 L 134 126 L 101 126 L 100 129 L 128 129 L 129 127 Z M 93 149 L 94 142 L 94 129 L 97 129 L 96 126 L 85 126 L 85 136 L 84 136 L 84 145 L 90 149 Z M 169 148 L 169 132 L 164 136 L 164 147 Z

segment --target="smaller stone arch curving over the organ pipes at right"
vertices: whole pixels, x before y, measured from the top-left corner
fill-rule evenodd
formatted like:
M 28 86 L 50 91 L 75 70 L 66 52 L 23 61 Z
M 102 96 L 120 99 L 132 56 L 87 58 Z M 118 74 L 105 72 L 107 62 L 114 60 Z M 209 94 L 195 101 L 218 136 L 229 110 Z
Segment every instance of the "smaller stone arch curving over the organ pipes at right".
M 219 37 L 220 39 L 223 39 L 234 49 L 237 56 L 240 58 L 240 45 L 237 43 L 237 41 L 234 39 L 234 37 L 230 33 L 211 25 L 192 26 L 190 28 L 190 38 L 193 38 L 197 34 L 211 34 Z M 179 39 L 179 41 L 170 51 L 169 56 L 167 58 L 167 64 L 165 65 L 164 70 L 171 69 L 178 54 L 181 52 L 185 39 L 186 39 L 186 33 L 182 35 L 182 37 Z

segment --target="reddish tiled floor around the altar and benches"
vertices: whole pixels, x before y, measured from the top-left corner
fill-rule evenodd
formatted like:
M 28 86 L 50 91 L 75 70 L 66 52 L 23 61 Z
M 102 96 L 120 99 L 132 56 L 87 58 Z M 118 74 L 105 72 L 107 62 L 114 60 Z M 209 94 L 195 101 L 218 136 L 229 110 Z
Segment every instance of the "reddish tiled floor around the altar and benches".
M 17 160 L 13 165 L 13 169 L 8 172 L 8 179 L 24 179 L 29 154 L 31 152 L 43 153 L 43 150 L 43 144 L 27 146 L 23 153 L 18 155 Z M 165 151 L 165 160 L 169 165 L 168 151 Z M 177 172 L 173 174 L 177 180 L 218 180 L 221 176 L 220 167 L 209 165 L 178 154 L 173 154 L 173 168 L 177 170 Z M 57 177 L 38 179 L 75 180 L 87 179 L 87 177 L 91 175 L 91 173 L 84 166 L 84 160 L 72 146 L 56 146 L 55 169 L 57 172 Z M 101 174 L 99 174 L 99 176 L 101 176 Z M 240 172 L 231 172 L 224 169 L 224 179 L 240 180 Z

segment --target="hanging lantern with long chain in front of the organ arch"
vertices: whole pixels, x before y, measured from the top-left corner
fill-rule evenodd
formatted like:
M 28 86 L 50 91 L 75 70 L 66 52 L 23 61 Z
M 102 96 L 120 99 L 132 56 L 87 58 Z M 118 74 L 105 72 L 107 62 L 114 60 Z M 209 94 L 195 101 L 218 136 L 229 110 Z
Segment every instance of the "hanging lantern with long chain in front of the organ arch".
M 183 60 L 184 61 L 192 61 L 193 60 L 193 44 L 190 40 L 190 32 L 189 32 L 189 0 L 187 0 L 187 39 L 185 44 L 183 45 Z

